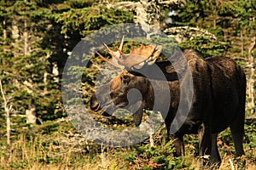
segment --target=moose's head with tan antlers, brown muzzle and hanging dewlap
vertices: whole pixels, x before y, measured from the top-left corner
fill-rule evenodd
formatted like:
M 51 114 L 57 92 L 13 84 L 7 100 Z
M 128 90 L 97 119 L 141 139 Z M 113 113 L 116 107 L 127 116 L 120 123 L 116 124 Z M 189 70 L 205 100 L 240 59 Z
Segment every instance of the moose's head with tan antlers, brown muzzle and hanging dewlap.
M 103 116 L 110 116 L 118 108 L 124 108 L 134 113 L 134 122 L 138 126 L 142 120 L 143 109 L 152 109 L 154 104 L 152 85 L 138 70 L 145 65 L 153 65 L 160 56 L 161 48 L 142 43 L 139 48 L 131 45 L 130 54 L 124 54 L 123 44 L 124 37 L 117 51 L 104 44 L 112 56 L 111 60 L 96 52 L 104 61 L 119 68 L 121 72 L 111 82 L 96 89 L 96 93 L 90 99 L 90 108 L 93 111 L 102 109 Z

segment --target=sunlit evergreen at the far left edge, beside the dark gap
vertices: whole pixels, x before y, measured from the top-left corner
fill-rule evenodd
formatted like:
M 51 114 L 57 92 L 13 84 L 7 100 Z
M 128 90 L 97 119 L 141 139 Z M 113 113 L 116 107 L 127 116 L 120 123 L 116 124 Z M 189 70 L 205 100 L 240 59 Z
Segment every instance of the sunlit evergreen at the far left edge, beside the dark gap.
M 54 118 L 61 95 L 50 75 L 51 52 L 43 47 L 50 11 L 28 1 L 3 3 L 2 9 L 0 71 L 6 94 L 14 98 L 12 121 L 19 126 L 26 122 L 23 117 L 31 105 L 36 106 L 38 117 Z

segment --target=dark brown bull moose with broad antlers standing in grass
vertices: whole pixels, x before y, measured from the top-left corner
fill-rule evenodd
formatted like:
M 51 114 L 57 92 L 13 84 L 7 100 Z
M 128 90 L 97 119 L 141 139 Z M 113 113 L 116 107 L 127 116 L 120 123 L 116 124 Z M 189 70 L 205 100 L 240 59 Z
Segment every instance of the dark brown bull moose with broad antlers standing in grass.
M 176 149 L 174 156 L 184 155 L 183 135 L 195 133 L 199 137 L 201 166 L 219 165 L 221 158 L 218 153 L 217 137 L 218 133 L 224 131 L 227 127 L 230 127 L 236 156 L 244 155 L 242 142 L 244 136 L 246 77 L 240 65 L 237 65 L 233 59 L 226 57 L 203 59 L 201 54 L 195 50 L 184 49 L 183 56 L 187 60 L 192 74 L 194 95 L 185 122 L 176 133 L 170 134 L 173 117 L 176 115 L 180 101 L 179 84 L 181 80 L 177 80 L 173 77 L 173 72 L 168 71 L 172 66 L 171 62 L 155 61 L 161 54 L 160 49 L 156 48 L 155 45 L 146 46 L 142 44 L 140 48 L 131 47 L 131 53 L 124 54 L 122 52 L 123 43 L 124 39 L 117 51 L 111 50 L 104 44 L 115 62 L 97 53 L 102 59 L 119 67 L 122 71 L 108 83 L 108 88 L 110 88 L 108 93 L 110 93 L 113 102 L 104 100 L 107 92 L 104 94 L 103 90 L 102 95 L 96 97 L 96 94 L 93 94 L 91 97 L 91 110 L 99 111 L 102 109 L 105 111 L 104 116 L 110 116 L 109 111 L 114 111 L 108 110 L 110 105 L 115 105 L 116 108 L 125 108 L 131 102 L 126 97 L 127 93 L 130 89 L 137 88 L 143 96 L 143 101 L 139 109 L 133 114 L 136 126 L 139 126 L 142 122 L 143 109 L 160 111 L 160 108 L 153 108 L 154 90 L 156 89 L 153 89 L 150 81 L 152 79 L 159 81 L 160 87 L 162 80 L 157 80 L 157 77 L 145 77 L 137 71 L 142 67 L 150 71 L 151 66 L 147 63 L 151 62 L 158 65 L 165 74 L 172 96 L 165 124 L 168 138 L 172 139 L 172 144 Z M 142 66 L 142 63 L 145 65 Z M 133 100 L 131 105 L 135 104 L 137 99 Z M 160 103 L 166 101 L 165 99 L 160 100 L 162 100 Z M 106 113 L 107 110 L 108 113 Z M 207 156 L 210 156 L 209 160 L 204 159 Z

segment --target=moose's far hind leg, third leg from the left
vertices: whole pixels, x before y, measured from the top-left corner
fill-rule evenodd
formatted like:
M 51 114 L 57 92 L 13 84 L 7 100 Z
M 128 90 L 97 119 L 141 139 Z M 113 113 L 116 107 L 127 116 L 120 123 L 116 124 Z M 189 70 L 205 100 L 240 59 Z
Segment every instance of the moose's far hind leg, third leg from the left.
M 218 137 L 218 133 L 212 133 L 212 150 L 211 150 L 210 164 L 220 166 L 221 158 L 218 152 L 217 137 Z

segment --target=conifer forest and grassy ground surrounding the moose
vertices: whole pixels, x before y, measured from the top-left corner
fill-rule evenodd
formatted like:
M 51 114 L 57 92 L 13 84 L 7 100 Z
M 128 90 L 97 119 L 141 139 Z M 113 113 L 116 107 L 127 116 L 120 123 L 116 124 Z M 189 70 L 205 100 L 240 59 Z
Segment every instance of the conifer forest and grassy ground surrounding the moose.
M 0 168 L 198 168 L 194 135 L 185 139 L 187 156 L 174 158 L 163 128 L 154 134 L 154 147 L 146 140 L 130 147 L 110 148 L 87 141 L 69 122 L 61 101 L 61 72 L 68 56 L 90 33 L 121 23 L 148 24 L 165 32 L 181 48 L 194 48 L 204 57 L 227 56 L 244 68 L 244 159 L 248 169 L 255 168 L 255 16 L 253 0 L 1 0 Z M 101 59 L 94 61 L 103 63 Z M 90 75 L 96 71 L 90 69 Z M 85 77 L 88 74 L 85 69 Z M 93 77 L 87 77 L 81 87 L 84 104 L 88 105 Z M 120 126 L 115 120 L 96 117 Z M 218 138 L 223 169 L 237 166 L 231 140 L 229 129 Z

